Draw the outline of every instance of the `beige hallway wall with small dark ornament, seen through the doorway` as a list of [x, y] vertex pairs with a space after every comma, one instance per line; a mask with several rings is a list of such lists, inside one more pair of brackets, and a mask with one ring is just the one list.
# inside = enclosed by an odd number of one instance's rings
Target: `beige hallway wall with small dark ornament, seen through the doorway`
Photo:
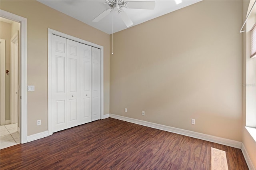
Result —
[[[11, 24], [1, 21], [1, 39], [5, 40], [5, 70], [10, 71]], [[5, 120], [10, 120], [10, 72], [5, 74]]]

